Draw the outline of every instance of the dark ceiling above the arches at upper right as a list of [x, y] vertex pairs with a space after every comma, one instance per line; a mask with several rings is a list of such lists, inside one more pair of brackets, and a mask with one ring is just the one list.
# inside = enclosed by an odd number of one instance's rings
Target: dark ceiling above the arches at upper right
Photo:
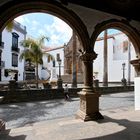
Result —
[[60, 0], [140, 21], [140, 0]]

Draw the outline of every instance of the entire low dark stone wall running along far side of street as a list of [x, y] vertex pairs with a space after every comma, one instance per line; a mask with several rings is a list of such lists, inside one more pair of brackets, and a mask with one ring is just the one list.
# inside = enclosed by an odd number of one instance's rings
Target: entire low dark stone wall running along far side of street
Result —
[[[82, 88], [69, 88], [69, 96], [79, 97], [77, 92], [80, 92]], [[117, 86], [117, 87], [96, 87], [94, 88], [95, 92], [100, 94], [110, 94], [116, 92], [126, 92], [134, 91], [134, 86]], [[64, 90], [63, 89], [16, 89], [16, 90], [7, 90], [0, 91], [1, 98], [0, 104], [3, 103], [12, 103], [12, 102], [28, 102], [28, 101], [39, 101], [39, 100], [51, 100], [51, 99], [63, 99]]]

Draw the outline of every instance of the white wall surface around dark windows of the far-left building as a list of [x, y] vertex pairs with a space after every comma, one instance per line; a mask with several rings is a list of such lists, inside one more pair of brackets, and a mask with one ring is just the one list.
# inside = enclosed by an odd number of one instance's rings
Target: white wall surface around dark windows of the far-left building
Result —
[[[23, 50], [23, 47], [20, 46], [20, 41], [24, 40], [25, 35], [15, 29], [12, 30], [19, 35], [18, 38], [18, 48], [20, 48], [20, 52]], [[2, 32], [2, 41], [4, 42], [4, 48], [2, 49], [2, 61], [5, 61], [5, 67], [2, 69], [2, 81], [9, 81], [11, 76], [5, 77], [4, 76], [4, 69], [15, 69], [18, 70], [18, 80], [23, 80], [23, 73], [24, 73], [24, 60], [18, 62], [18, 67], [12, 66], [12, 32], [7, 32], [6, 29]], [[18, 57], [20, 53], [18, 53]]]

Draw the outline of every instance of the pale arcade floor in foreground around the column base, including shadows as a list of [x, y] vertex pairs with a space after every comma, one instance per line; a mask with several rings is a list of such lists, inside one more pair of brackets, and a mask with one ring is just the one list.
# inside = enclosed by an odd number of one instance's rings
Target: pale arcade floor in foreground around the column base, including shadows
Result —
[[7, 130], [0, 140], [139, 140], [140, 111], [121, 108], [102, 111], [105, 119], [82, 122], [65, 117]]

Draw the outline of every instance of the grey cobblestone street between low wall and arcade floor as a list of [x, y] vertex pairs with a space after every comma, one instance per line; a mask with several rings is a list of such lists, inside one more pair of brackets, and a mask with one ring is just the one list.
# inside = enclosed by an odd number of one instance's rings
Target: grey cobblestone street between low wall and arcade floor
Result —
[[[100, 97], [100, 111], [133, 107], [134, 92], [123, 92], [102, 95]], [[79, 98], [71, 101], [64, 99], [15, 103], [0, 105], [0, 118], [6, 122], [6, 128], [28, 126], [34, 122], [74, 116], [79, 109]]]

